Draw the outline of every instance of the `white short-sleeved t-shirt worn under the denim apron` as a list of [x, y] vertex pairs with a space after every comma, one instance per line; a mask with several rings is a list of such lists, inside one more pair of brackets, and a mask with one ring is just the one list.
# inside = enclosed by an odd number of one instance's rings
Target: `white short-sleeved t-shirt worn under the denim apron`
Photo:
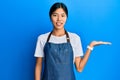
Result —
[[[44, 57], [43, 49], [44, 49], [44, 46], [45, 46], [45, 43], [47, 41], [49, 34], [50, 34], [50, 32], [42, 34], [38, 37], [36, 50], [35, 50], [35, 54], [34, 54], [35, 57]], [[71, 46], [73, 48], [74, 59], [75, 59], [75, 57], [83, 56], [83, 49], [82, 49], [80, 37], [77, 34], [71, 33], [71, 32], [68, 32], [68, 34], [70, 37]], [[66, 43], [67, 42], [66, 35], [63, 35], [60, 37], [51, 35], [49, 42], [56, 43], [56, 44]]]

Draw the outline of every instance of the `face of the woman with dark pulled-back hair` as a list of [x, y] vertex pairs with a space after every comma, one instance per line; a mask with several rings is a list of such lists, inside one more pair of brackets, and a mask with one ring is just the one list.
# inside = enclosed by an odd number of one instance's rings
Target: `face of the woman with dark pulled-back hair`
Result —
[[51, 15], [51, 20], [54, 25], [54, 29], [63, 29], [66, 22], [67, 15], [62, 8], [58, 8]]

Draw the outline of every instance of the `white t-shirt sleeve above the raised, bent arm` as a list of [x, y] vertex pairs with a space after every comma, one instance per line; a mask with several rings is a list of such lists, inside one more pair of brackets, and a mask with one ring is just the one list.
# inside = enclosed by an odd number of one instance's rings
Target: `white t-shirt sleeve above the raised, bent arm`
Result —
[[78, 35], [75, 35], [74, 41], [74, 57], [83, 56], [83, 49], [81, 39]]

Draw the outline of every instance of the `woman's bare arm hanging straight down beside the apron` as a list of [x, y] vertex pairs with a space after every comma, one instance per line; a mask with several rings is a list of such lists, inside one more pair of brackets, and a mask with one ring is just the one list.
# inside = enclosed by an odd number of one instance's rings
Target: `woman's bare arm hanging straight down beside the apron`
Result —
[[35, 66], [35, 80], [40, 80], [42, 72], [42, 57], [38, 57]]

